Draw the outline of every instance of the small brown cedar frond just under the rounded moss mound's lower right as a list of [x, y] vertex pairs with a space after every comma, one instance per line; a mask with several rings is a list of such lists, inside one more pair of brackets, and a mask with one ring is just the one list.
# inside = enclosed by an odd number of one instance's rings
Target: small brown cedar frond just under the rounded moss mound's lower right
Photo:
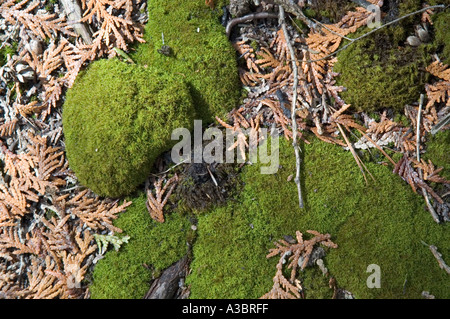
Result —
[[[164, 223], [164, 206], [169, 199], [169, 196], [172, 194], [175, 186], [178, 182], [178, 175], [175, 174], [171, 178], [169, 178], [164, 187], [162, 186], [166, 175], [159, 177], [157, 181], [155, 181], [154, 177], [150, 177], [145, 184], [146, 193], [147, 193], [147, 209], [150, 213], [150, 216], [156, 220], [157, 222]], [[155, 188], [155, 195], [153, 195], [152, 190], [150, 189], [150, 182], [153, 182], [153, 186]], [[170, 188], [169, 188], [170, 186]]]

